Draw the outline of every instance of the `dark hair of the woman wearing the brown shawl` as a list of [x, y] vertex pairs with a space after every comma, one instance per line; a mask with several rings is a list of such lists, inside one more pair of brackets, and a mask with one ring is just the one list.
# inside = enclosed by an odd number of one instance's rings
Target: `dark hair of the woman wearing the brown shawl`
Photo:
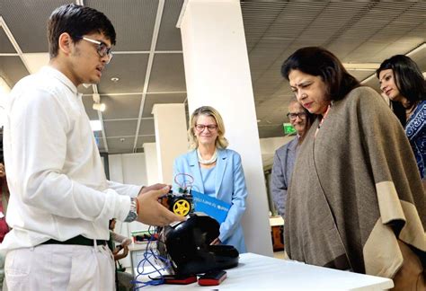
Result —
[[297, 49], [282, 64], [281, 74], [288, 80], [292, 70], [320, 76], [327, 86], [327, 98], [331, 101], [343, 99], [352, 89], [360, 86], [359, 81], [346, 71], [333, 53], [320, 47]]

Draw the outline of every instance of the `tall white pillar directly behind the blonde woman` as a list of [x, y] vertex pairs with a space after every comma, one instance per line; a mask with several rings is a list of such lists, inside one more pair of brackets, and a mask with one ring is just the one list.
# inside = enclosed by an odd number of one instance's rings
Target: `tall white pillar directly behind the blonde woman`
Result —
[[238, 0], [189, 0], [181, 33], [190, 114], [216, 108], [230, 148], [241, 154], [247, 184], [243, 227], [247, 250], [272, 256], [269, 209], [243, 16]]

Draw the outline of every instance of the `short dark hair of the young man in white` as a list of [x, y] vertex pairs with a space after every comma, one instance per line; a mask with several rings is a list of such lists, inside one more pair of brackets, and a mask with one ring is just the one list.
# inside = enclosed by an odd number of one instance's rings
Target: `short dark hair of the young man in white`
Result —
[[48, 40], [50, 58], [58, 56], [59, 36], [67, 32], [73, 41], [80, 41], [84, 34], [102, 33], [115, 45], [115, 30], [105, 14], [82, 5], [65, 4], [55, 9], [49, 17]]

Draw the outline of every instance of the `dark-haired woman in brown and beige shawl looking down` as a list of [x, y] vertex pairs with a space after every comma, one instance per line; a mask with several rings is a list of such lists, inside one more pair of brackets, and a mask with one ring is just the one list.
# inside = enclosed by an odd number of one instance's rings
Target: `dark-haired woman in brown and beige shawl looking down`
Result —
[[425, 193], [404, 128], [324, 48], [298, 49], [281, 73], [320, 116], [288, 189], [289, 258], [424, 288]]

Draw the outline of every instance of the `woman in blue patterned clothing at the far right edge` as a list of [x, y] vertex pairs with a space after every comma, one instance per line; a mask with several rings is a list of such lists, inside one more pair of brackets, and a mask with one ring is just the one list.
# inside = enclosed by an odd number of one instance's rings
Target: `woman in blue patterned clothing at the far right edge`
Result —
[[404, 55], [386, 59], [377, 69], [380, 90], [404, 107], [403, 114], [395, 115], [405, 128], [419, 167], [423, 185], [426, 185], [426, 81], [419, 66]]

